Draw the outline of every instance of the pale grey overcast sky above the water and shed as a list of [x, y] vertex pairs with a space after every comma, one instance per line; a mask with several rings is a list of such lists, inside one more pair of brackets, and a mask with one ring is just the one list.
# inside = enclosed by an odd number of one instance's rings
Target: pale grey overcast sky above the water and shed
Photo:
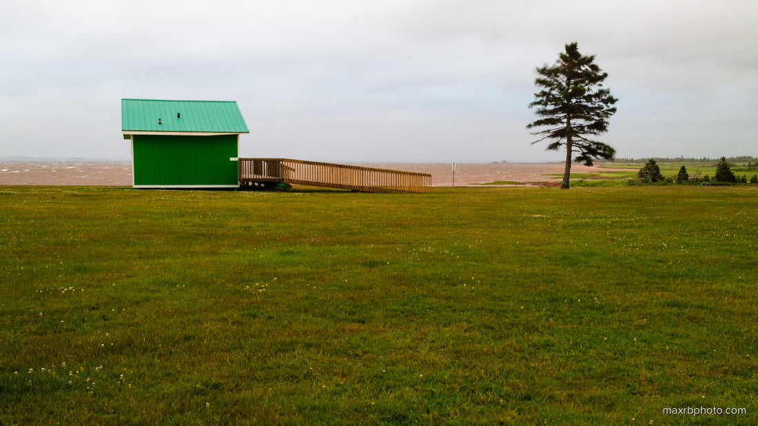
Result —
[[561, 160], [527, 105], [574, 41], [619, 157], [758, 155], [754, 0], [9, 0], [0, 157], [129, 160], [150, 98], [237, 101], [242, 157]]

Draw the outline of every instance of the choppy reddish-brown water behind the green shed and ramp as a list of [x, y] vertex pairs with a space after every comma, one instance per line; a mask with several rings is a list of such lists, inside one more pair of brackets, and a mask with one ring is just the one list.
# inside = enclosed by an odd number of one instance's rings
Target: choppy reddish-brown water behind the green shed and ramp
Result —
[[[381, 169], [430, 173], [432, 185], [452, 186], [452, 165], [447, 163], [352, 163]], [[596, 167], [572, 166], [572, 172], [586, 173]], [[522, 185], [559, 184], [561, 163], [457, 163], [456, 186], [489, 182], [522, 182]], [[132, 185], [130, 161], [0, 161], [0, 185]]]

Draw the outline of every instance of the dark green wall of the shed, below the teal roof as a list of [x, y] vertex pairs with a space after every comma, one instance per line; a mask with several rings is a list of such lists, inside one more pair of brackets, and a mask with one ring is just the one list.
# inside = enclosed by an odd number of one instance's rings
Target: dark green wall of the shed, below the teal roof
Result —
[[237, 185], [239, 135], [134, 135], [134, 186]]

